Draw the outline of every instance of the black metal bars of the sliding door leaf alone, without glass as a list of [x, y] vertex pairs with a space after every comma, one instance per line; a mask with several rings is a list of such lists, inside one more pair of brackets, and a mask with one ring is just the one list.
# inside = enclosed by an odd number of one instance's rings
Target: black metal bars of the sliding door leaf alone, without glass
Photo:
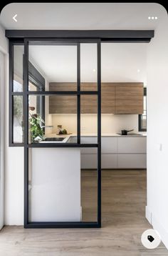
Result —
[[[101, 59], [100, 39], [51, 39], [54, 43], [75, 44], [77, 46], [77, 91], [51, 92], [51, 91], [28, 91], [28, 44], [29, 41], [47, 41], [48, 39], [24, 39], [24, 79], [23, 79], [23, 117], [24, 117], [24, 227], [101, 227]], [[97, 91], [80, 91], [80, 43], [97, 44], [97, 67], [98, 67], [98, 90]], [[77, 143], [56, 144], [56, 143], [36, 143], [28, 144], [28, 96], [29, 95], [76, 95], [77, 96]], [[97, 144], [80, 144], [80, 95], [95, 94], [98, 96], [98, 143]], [[97, 147], [98, 149], [98, 219], [95, 222], [29, 222], [28, 221], [28, 149], [33, 147]]]

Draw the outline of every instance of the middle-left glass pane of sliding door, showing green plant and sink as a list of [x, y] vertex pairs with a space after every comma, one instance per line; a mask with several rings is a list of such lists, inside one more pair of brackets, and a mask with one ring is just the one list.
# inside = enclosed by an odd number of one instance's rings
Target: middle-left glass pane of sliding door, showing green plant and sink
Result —
[[28, 97], [29, 143], [76, 143], [77, 97], [51, 95]]

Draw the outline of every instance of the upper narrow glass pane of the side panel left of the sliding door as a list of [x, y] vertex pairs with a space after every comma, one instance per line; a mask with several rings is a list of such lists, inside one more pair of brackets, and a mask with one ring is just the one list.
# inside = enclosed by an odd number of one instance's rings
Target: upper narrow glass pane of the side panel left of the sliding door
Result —
[[14, 45], [13, 91], [23, 92], [23, 45]]

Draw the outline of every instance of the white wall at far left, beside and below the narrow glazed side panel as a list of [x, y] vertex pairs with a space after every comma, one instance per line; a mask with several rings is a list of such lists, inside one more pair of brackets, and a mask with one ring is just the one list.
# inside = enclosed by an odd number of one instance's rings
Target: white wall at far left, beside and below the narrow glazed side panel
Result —
[[9, 55], [8, 40], [0, 26], [0, 51], [4, 52], [4, 94], [5, 94], [5, 184], [4, 224], [23, 225], [23, 148], [9, 147]]

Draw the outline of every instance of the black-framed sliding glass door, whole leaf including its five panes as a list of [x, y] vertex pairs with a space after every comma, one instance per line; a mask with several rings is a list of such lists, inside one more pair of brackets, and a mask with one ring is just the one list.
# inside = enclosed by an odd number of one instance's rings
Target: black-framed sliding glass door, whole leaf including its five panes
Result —
[[[29, 62], [43, 75], [43, 90], [28, 79]], [[24, 39], [23, 70], [24, 227], [100, 227], [100, 40]], [[36, 107], [42, 97], [45, 120]], [[83, 132], [90, 108], [93, 142]], [[81, 152], [97, 155], [89, 192]]]

